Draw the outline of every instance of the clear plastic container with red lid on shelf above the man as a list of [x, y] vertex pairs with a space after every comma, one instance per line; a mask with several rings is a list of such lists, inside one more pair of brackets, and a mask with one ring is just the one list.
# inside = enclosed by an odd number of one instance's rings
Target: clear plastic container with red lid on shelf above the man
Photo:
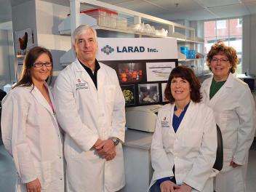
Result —
[[97, 8], [82, 11], [81, 13], [94, 17], [97, 20], [97, 25], [108, 28], [116, 28], [117, 12], [113, 12], [108, 9]]

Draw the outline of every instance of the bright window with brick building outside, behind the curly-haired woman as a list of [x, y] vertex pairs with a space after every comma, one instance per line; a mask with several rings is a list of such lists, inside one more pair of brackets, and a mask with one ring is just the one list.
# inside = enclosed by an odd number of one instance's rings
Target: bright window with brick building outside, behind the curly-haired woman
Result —
[[236, 73], [241, 73], [242, 65], [242, 23], [242, 18], [204, 22], [204, 54], [207, 55], [212, 44], [217, 41], [224, 41], [226, 45], [235, 48], [239, 56], [239, 65], [237, 65]]

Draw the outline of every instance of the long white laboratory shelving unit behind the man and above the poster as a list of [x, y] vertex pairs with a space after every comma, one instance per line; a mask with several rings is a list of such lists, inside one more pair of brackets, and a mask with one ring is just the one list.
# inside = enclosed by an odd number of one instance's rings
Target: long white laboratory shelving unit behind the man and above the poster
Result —
[[[125, 9], [123, 7], [117, 7], [113, 4], [107, 4], [102, 1], [95, 0], [73, 0], [70, 1], [71, 13], [68, 15], [65, 20], [58, 26], [58, 31], [60, 35], [71, 36], [71, 32], [75, 30], [81, 24], [86, 24], [95, 28], [96, 31], [103, 31], [106, 33], [112, 33], [114, 36], [125, 36], [127, 37], [156, 37], [156, 38], [175, 38], [177, 39], [178, 47], [188, 46], [190, 49], [197, 49], [197, 44], [203, 46], [204, 39], [197, 37], [196, 31], [194, 28], [190, 28], [185, 25], [181, 25], [179, 23], [174, 23], [169, 20], [164, 20], [159, 17], [153, 17], [151, 15], [146, 15], [140, 12], [135, 12], [129, 9]], [[97, 20], [98, 18], [91, 17], [87, 14], [84, 14], [83, 11], [87, 11], [88, 9], [102, 7], [103, 9], [108, 9], [113, 12], [117, 12], [118, 15], [116, 17], [129, 18], [129, 25], [127, 25], [127, 29], [121, 28], [113, 28], [105, 26], [104, 23]], [[168, 30], [167, 36], [159, 36], [152, 33], [144, 33], [135, 30], [131, 30], [131, 25], [140, 25], [143, 23], [150, 23], [151, 26], [154, 26], [156, 30], [160, 30], [161, 28], [164, 30]], [[117, 26], [116, 26], [117, 27]], [[129, 36], [128, 34], [132, 34], [134, 36]], [[204, 55], [201, 55], [204, 57]], [[66, 52], [62, 57], [60, 57], [60, 64], [65, 66], [68, 65], [74, 59], [73, 51], [70, 49]], [[187, 59], [185, 55], [178, 55], [178, 61], [185, 62], [194, 62], [202, 63], [201, 58], [199, 59]]]

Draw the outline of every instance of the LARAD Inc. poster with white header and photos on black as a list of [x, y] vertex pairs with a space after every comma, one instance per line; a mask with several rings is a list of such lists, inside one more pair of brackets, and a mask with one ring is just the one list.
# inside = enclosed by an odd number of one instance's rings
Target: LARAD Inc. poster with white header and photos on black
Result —
[[100, 38], [97, 59], [113, 68], [127, 107], [165, 104], [165, 84], [177, 65], [177, 41]]

